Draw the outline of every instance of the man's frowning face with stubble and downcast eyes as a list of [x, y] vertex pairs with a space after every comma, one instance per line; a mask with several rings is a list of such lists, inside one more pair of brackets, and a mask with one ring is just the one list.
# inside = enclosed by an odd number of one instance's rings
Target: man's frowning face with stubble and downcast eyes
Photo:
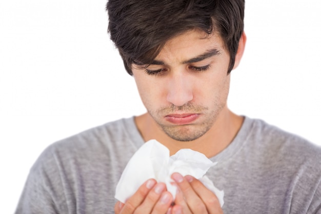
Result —
[[133, 65], [141, 99], [172, 139], [193, 141], [227, 109], [230, 56], [217, 35], [196, 30], [168, 41], [152, 65]]

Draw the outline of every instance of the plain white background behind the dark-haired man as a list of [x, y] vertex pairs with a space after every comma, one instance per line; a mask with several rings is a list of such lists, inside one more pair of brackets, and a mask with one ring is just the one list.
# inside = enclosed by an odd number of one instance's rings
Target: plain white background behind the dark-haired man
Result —
[[[0, 212], [49, 144], [144, 113], [109, 42], [105, 0], [0, 0]], [[249, 0], [229, 107], [321, 145], [321, 6]]]

